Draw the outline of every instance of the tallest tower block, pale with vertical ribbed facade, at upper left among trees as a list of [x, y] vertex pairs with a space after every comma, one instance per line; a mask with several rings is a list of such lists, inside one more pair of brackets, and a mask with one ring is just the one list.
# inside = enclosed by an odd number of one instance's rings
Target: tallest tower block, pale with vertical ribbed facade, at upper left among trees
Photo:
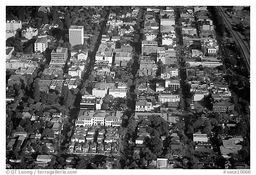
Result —
[[70, 26], [68, 32], [71, 46], [84, 44], [84, 26]]

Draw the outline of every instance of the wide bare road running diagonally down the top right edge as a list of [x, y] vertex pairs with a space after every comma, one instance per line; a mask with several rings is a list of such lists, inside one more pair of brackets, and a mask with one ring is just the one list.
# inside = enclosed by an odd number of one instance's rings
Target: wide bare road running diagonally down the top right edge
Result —
[[242, 55], [247, 60], [248, 66], [250, 68], [250, 51], [249, 51], [249, 49], [246, 47], [246, 44], [244, 43], [244, 40], [241, 38], [240, 34], [237, 31], [234, 31], [232, 29], [232, 24], [230, 23], [228, 17], [224, 13], [223, 8], [221, 6], [217, 6], [217, 7], [220, 11], [220, 15], [222, 16], [224, 22], [227, 24], [227, 27], [230, 28], [230, 30], [233, 34], [233, 38], [236, 40], [236, 43], [238, 44], [238, 46], [241, 48]]

